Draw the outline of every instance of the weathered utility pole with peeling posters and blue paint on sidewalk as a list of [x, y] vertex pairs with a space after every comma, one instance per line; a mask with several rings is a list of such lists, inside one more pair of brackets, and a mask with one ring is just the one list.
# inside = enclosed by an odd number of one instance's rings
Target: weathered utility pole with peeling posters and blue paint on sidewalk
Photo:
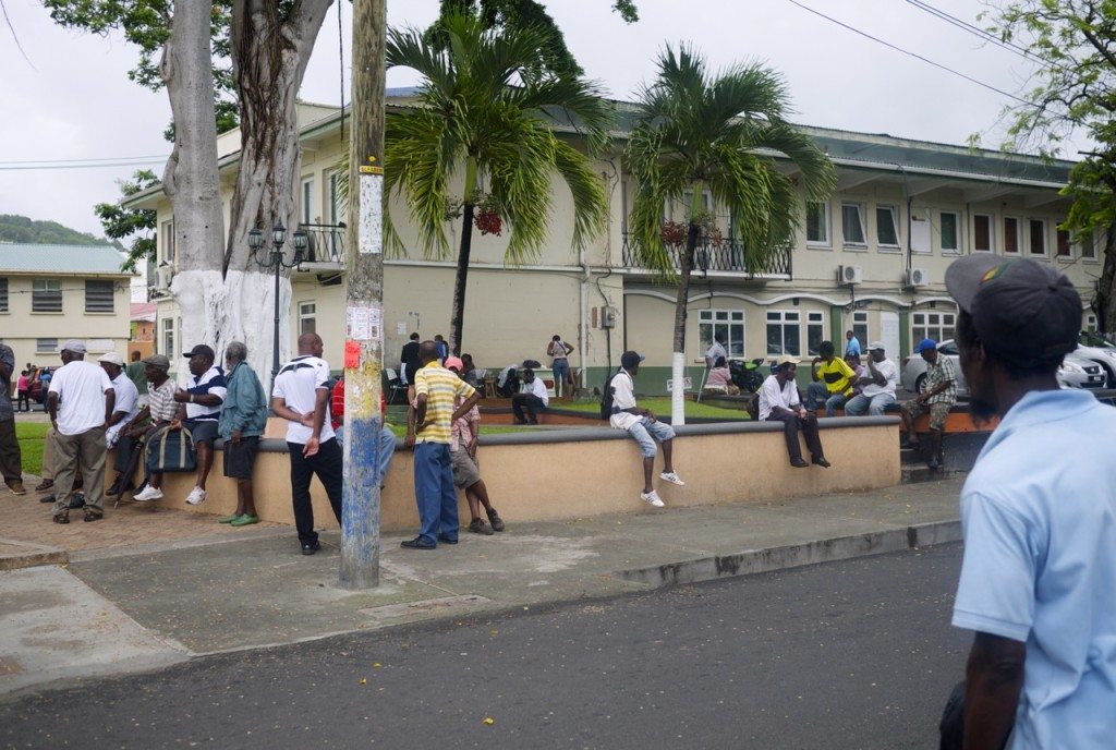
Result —
[[[345, 491], [341, 588], [379, 585], [384, 369], [384, 51], [387, 0], [353, 2], [349, 233], [345, 251]], [[354, 198], [356, 200], [354, 200]], [[356, 221], [353, 221], [353, 213]]]

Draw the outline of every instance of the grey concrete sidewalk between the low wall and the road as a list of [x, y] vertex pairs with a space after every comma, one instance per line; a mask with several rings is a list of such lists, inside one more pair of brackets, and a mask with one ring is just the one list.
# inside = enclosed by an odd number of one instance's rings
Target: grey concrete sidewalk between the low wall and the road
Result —
[[384, 537], [381, 586], [360, 593], [337, 587], [336, 532], [323, 536], [312, 557], [281, 527], [74, 549], [61, 567], [0, 573], [0, 693], [199, 654], [953, 541], [961, 481], [662, 511], [634, 506], [561, 522], [509, 518], [503, 533], [464, 532], [459, 545], [432, 551]]

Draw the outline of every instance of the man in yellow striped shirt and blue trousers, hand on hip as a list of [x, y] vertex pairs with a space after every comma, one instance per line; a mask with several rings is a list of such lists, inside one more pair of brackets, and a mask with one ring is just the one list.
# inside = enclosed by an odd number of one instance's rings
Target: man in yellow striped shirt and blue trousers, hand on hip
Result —
[[[480, 401], [477, 390], [439, 364], [437, 345], [419, 347], [423, 367], [415, 373], [415, 402], [407, 412], [404, 443], [414, 448], [415, 501], [422, 528], [403, 542], [405, 549], [434, 549], [439, 541], [458, 544], [458, 490], [453, 485], [450, 427]], [[461, 405], [453, 407], [458, 397]]]

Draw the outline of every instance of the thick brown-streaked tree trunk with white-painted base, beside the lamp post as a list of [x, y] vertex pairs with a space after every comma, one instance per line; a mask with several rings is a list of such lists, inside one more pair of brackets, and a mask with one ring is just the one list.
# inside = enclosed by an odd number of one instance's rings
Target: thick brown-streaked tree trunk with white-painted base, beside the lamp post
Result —
[[[297, 195], [301, 151], [296, 102], [326, 10], [333, 0], [298, 0], [286, 21], [275, 0], [237, 0], [233, 4], [233, 75], [240, 97], [240, 173], [230, 206], [223, 263], [228, 304], [221, 311], [221, 344], [248, 344], [248, 360], [258, 373], [271, 372], [275, 318], [272, 269], [260, 269], [248, 248], [248, 232], [259, 227], [271, 249], [271, 228], [288, 229], [283, 254], [294, 256], [298, 228]], [[270, 254], [270, 252], [268, 252]], [[289, 355], [291, 285], [289, 271], [279, 285], [279, 360]]]

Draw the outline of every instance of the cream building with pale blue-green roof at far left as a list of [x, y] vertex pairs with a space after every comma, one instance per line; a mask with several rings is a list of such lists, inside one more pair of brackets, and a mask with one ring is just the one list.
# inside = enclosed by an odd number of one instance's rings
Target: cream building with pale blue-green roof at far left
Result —
[[90, 354], [127, 358], [133, 273], [110, 244], [0, 242], [0, 340], [16, 364], [60, 366], [58, 345], [86, 342]]

